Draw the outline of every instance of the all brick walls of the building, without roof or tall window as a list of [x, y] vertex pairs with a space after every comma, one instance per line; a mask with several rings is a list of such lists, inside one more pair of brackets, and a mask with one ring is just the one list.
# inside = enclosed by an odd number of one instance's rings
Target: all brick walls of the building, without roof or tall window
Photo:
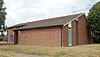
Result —
[[[88, 43], [86, 17], [82, 15], [72, 22], [72, 45]], [[15, 44], [34, 46], [68, 46], [68, 24], [65, 26], [52, 26], [34, 29], [18, 30], [8, 28], [8, 43], [10, 36], [15, 35]], [[17, 34], [16, 34], [17, 33]], [[17, 39], [18, 38], [18, 39]]]

